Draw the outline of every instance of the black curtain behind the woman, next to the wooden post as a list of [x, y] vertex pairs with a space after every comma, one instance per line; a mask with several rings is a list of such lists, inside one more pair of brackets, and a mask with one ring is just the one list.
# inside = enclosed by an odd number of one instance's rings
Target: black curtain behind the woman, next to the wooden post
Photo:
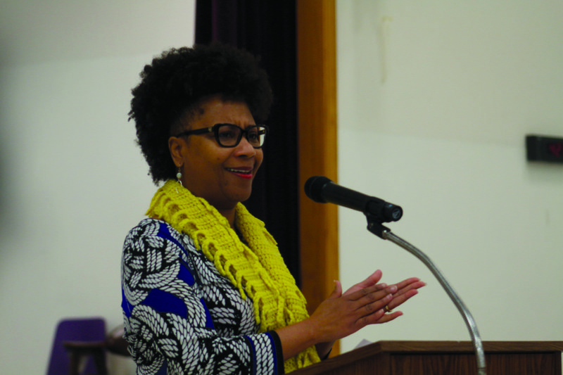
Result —
[[274, 91], [264, 162], [248, 210], [264, 221], [297, 284], [299, 267], [296, 0], [197, 0], [196, 44], [222, 42], [260, 58]]

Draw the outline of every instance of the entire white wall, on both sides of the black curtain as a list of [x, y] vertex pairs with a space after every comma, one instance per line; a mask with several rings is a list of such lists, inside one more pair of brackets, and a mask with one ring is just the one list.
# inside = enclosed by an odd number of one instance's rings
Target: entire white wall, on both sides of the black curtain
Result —
[[[563, 136], [563, 5], [340, 0], [339, 182], [403, 205], [485, 340], [562, 340], [563, 167], [524, 135]], [[126, 232], [154, 186], [127, 122], [151, 57], [193, 42], [194, 1], [4, 0], [0, 12], [0, 374], [46, 371], [61, 317], [121, 322]], [[384, 31], [385, 30], [385, 31]], [[361, 338], [466, 340], [412, 255], [341, 210], [341, 279], [429, 283]], [[127, 365], [114, 367], [127, 373]]]

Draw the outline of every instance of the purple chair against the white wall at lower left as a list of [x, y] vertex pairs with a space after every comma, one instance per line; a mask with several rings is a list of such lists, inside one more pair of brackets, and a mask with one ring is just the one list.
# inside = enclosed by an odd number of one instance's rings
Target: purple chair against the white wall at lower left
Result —
[[[81, 358], [86, 359], [83, 367]], [[65, 374], [108, 374], [103, 318], [68, 318], [58, 322], [47, 375]]]

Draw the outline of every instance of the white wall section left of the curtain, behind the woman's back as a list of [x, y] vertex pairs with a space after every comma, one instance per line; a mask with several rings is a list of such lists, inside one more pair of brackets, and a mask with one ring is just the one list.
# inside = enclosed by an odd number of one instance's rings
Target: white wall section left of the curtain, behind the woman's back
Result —
[[58, 319], [122, 322], [122, 242], [155, 190], [130, 90], [153, 56], [193, 44], [194, 1], [2, 8], [0, 374], [44, 374]]

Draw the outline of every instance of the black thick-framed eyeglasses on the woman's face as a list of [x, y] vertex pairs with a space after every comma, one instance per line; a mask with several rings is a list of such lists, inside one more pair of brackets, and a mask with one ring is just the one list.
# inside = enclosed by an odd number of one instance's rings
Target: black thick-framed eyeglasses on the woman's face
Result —
[[261, 148], [268, 132], [266, 125], [251, 125], [246, 129], [233, 124], [215, 124], [212, 127], [203, 129], [187, 130], [177, 134], [177, 136], [189, 136], [192, 134], [215, 134], [215, 140], [221, 147], [236, 147], [241, 143], [242, 136], [246, 137], [251, 146]]

